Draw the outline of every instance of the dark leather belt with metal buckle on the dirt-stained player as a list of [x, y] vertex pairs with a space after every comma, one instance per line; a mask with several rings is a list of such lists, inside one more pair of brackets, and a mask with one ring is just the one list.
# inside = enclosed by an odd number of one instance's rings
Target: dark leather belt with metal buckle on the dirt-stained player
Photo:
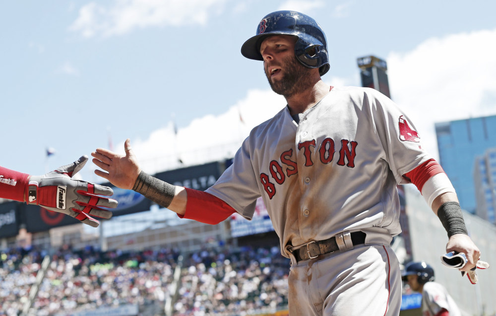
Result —
[[[364, 232], [353, 232], [351, 235], [351, 241], [353, 246], [365, 244]], [[331, 237], [326, 240], [311, 241], [306, 247], [302, 247], [293, 252], [296, 257], [296, 261], [313, 259], [324, 253], [333, 253], [339, 250], [339, 246], [336, 242], [336, 237]]]

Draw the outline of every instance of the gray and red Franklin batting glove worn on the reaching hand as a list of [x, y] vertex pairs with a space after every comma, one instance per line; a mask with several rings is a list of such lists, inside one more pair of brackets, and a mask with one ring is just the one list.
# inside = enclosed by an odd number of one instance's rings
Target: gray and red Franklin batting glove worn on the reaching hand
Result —
[[26, 189], [26, 203], [61, 212], [84, 224], [98, 227], [100, 222], [91, 216], [111, 218], [112, 212], [101, 207], [115, 208], [118, 202], [98, 196], [114, 194], [111, 188], [72, 179], [87, 161], [88, 156], [84, 155], [43, 176], [31, 176]]

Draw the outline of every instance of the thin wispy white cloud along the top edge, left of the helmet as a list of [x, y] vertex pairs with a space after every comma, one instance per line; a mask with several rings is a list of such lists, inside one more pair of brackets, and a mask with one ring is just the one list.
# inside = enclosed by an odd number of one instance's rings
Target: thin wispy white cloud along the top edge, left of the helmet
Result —
[[[203, 25], [226, 0], [116, 0], [111, 6], [90, 2], [79, 9], [69, 30], [83, 37], [122, 35], [151, 26]], [[195, 8], [192, 10], [191, 8]]]

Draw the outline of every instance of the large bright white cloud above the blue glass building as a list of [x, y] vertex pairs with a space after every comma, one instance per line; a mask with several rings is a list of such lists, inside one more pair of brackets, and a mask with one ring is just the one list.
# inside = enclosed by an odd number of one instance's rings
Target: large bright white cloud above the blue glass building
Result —
[[434, 123], [496, 114], [496, 29], [431, 38], [387, 57], [392, 99], [437, 156]]

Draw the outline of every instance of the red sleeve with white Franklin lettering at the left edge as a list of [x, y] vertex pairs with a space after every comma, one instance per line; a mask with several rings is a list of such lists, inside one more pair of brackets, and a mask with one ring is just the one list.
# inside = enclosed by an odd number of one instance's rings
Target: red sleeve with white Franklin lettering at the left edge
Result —
[[0, 197], [24, 202], [29, 175], [0, 166]]

